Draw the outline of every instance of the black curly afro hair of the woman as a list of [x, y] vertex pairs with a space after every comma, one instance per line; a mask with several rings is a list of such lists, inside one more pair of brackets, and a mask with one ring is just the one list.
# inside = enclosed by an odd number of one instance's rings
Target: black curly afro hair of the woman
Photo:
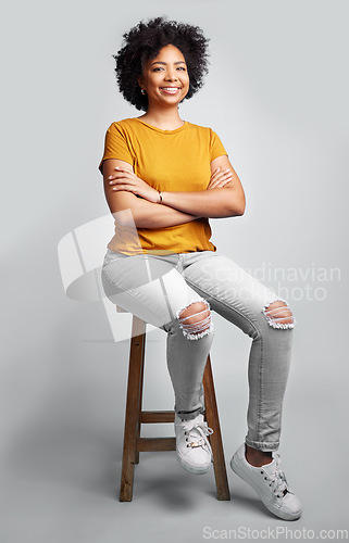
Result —
[[116, 80], [123, 97], [137, 110], [148, 109], [148, 97], [141, 93], [138, 78], [142, 76], [146, 63], [169, 45], [179, 49], [187, 63], [189, 90], [185, 98], [191, 98], [202, 87], [203, 77], [209, 71], [209, 39], [198, 26], [166, 21], [161, 16], [148, 23], [141, 21], [123, 38], [124, 46], [113, 55], [116, 61]]

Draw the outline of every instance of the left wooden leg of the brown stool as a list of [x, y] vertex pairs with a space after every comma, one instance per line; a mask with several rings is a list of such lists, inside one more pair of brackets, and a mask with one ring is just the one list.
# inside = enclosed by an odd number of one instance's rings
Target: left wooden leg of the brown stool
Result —
[[130, 502], [133, 497], [134, 470], [135, 462], [137, 459], [137, 438], [139, 435], [139, 411], [142, 367], [145, 361], [145, 342], [146, 323], [134, 316], [129, 351], [124, 451], [120, 488], [121, 502]]

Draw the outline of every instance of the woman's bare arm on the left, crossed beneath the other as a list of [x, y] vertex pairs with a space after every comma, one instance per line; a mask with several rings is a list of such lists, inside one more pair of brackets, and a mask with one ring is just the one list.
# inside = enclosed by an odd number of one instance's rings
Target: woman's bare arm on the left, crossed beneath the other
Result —
[[[132, 173], [134, 168], [128, 162], [116, 159], [108, 159], [103, 162], [103, 180], [107, 202], [112, 213], [124, 210], [128, 211], [117, 214], [119, 220], [122, 220], [124, 226], [133, 226], [134, 223], [139, 228], [163, 228], [166, 226], [182, 225], [198, 218], [192, 214], [177, 211], [167, 205], [160, 205], [159, 203], [150, 202], [144, 198], [137, 198], [137, 195], [130, 191], [114, 191], [112, 185], [110, 185], [109, 177], [115, 173], [116, 167], [125, 168]], [[151, 187], [149, 188], [151, 189]], [[151, 190], [155, 192], [158, 201], [158, 191], [154, 189]]]

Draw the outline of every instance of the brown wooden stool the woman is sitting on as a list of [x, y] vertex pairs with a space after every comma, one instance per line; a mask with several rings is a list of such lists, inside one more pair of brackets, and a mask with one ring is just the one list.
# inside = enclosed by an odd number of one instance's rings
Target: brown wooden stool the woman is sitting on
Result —
[[[119, 306], [116, 306], [116, 311], [119, 313], [127, 313]], [[153, 412], [142, 411], [141, 408], [146, 326], [147, 324], [144, 320], [135, 315], [133, 316], [125, 413], [124, 452], [120, 489], [121, 502], [132, 501], [135, 464], [139, 463], [140, 452], [176, 450], [175, 438], [140, 437], [141, 425], [151, 422], [174, 422], [175, 418], [174, 411]], [[203, 390], [205, 420], [208, 426], [214, 431], [209, 439], [213, 454], [217, 500], [230, 500], [210, 355], [208, 356], [203, 375]]]

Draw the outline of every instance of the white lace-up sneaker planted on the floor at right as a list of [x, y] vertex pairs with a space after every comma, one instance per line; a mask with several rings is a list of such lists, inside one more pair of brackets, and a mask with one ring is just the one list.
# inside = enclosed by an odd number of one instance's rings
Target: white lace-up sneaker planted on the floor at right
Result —
[[248, 482], [258, 493], [265, 507], [284, 520], [296, 520], [301, 515], [301, 504], [287, 484], [285, 473], [279, 469], [281, 457], [261, 467], [249, 464], [245, 457], [245, 444], [230, 460], [236, 475]]

